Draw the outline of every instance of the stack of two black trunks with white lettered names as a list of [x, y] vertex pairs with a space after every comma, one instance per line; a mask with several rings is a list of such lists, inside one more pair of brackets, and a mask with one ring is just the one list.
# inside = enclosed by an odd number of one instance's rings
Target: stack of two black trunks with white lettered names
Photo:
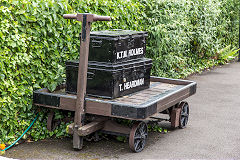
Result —
[[[117, 98], [150, 85], [152, 60], [144, 58], [147, 32], [91, 32], [87, 95]], [[81, 54], [81, 53], [80, 53]], [[76, 94], [79, 61], [66, 62], [66, 92]]]

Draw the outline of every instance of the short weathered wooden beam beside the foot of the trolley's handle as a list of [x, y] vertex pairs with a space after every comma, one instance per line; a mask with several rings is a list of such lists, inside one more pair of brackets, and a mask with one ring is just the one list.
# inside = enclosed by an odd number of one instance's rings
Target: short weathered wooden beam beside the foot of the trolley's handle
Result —
[[78, 128], [79, 136], [87, 136], [97, 130], [100, 130], [104, 127], [104, 121], [90, 122], [82, 127]]

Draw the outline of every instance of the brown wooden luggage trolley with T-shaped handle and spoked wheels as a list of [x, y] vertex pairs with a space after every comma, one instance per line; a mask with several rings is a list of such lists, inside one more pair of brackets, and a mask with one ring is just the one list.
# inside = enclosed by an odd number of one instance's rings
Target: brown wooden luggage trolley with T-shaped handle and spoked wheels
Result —
[[[196, 83], [187, 80], [150, 78], [150, 87], [115, 99], [86, 96], [90, 25], [94, 21], [110, 21], [108, 16], [94, 14], [65, 14], [66, 19], [82, 22], [80, 60], [78, 65], [77, 95], [65, 92], [60, 85], [54, 92], [48, 89], [34, 91], [33, 103], [53, 109], [74, 111], [74, 123], [68, 127], [73, 134], [73, 148], [81, 149], [83, 137], [96, 131], [129, 137], [130, 149], [143, 150], [148, 135], [149, 119], [163, 120], [158, 113], [169, 114], [171, 126], [185, 128], [188, 122], [189, 105], [182, 100], [196, 92]], [[51, 129], [53, 114], [48, 117]], [[132, 120], [131, 127], [118, 124], [114, 118]]]

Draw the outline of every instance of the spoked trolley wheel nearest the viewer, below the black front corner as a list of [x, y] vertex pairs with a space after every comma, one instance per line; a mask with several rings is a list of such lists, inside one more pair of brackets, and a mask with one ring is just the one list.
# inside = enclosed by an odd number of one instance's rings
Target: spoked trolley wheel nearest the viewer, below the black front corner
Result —
[[148, 136], [148, 127], [145, 122], [134, 123], [129, 135], [129, 147], [133, 152], [141, 152]]

